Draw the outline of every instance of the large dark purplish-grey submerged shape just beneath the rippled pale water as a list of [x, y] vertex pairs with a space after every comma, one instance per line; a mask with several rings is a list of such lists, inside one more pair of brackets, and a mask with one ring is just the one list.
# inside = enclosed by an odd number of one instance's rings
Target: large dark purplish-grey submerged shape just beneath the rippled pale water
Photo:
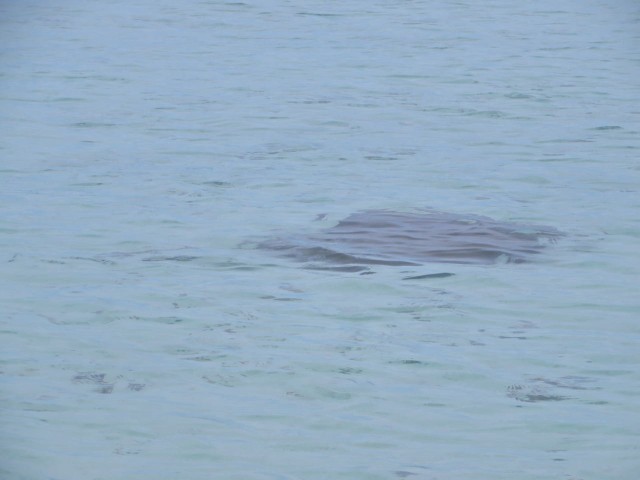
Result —
[[553, 227], [479, 215], [370, 210], [325, 230], [266, 240], [258, 248], [308, 268], [357, 272], [371, 265], [524, 263], [562, 235]]

